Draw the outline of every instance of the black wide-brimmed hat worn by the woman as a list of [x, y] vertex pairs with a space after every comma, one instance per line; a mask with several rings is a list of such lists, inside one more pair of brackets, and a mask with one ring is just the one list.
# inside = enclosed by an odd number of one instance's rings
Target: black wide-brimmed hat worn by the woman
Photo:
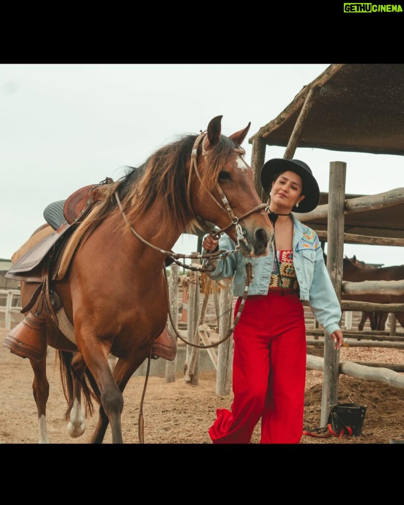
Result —
[[300, 160], [286, 160], [284, 158], [274, 158], [264, 163], [261, 169], [261, 184], [264, 191], [271, 190], [271, 183], [274, 176], [280, 172], [290, 170], [301, 177], [303, 183], [302, 194], [305, 198], [299, 203], [299, 207], [293, 207], [293, 212], [310, 212], [314, 210], [320, 201], [320, 188], [314, 178], [312, 171], [305, 162]]

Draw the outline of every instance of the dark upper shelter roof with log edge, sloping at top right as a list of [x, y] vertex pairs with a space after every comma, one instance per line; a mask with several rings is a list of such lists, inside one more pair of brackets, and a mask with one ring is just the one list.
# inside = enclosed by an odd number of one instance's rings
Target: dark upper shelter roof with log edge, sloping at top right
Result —
[[249, 138], [286, 146], [310, 89], [318, 87], [299, 147], [404, 155], [404, 64], [333, 64]]

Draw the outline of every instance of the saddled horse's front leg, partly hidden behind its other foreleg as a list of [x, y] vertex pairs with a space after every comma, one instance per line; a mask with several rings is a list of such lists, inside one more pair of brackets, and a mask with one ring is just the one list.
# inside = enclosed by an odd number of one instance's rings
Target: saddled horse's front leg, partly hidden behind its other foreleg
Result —
[[[143, 361], [149, 356], [150, 347], [144, 349], [143, 352], [136, 352], [135, 356], [128, 361], [118, 360], [114, 367], [114, 378], [120, 391], [123, 393], [126, 384], [129, 379], [133, 376], [134, 372], [139, 368]], [[99, 418], [98, 423], [95, 428], [91, 443], [102, 443], [105, 437], [109, 424], [108, 416], [103, 409], [103, 406], [99, 408]], [[112, 429], [112, 425], [111, 425]], [[114, 434], [113, 434], [114, 441]]]

